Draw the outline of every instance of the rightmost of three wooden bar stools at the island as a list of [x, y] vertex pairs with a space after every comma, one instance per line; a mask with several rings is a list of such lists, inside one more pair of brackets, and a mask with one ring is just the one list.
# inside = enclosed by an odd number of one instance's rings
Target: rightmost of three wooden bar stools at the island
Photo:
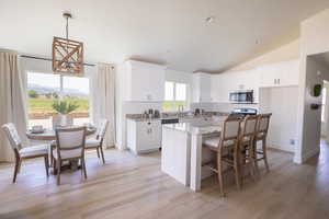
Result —
[[[253, 153], [254, 153], [254, 161], [256, 161], [256, 169], [259, 173], [258, 162], [264, 160], [266, 171], [270, 171], [269, 162], [268, 162], [268, 152], [266, 152], [266, 137], [269, 131], [270, 118], [272, 114], [261, 114], [258, 117], [258, 126], [256, 130], [256, 138], [253, 141]], [[258, 141], [262, 142], [262, 148], [258, 149]], [[258, 158], [258, 154], [262, 157]]]

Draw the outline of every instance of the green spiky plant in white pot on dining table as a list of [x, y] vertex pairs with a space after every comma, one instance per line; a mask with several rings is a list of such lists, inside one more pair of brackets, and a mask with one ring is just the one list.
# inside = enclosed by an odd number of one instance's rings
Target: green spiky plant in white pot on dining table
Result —
[[68, 100], [54, 101], [53, 108], [58, 114], [53, 116], [53, 128], [73, 125], [73, 118], [68, 116], [68, 114], [76, 111], [79, 105], [77, 102], [70, 102]]

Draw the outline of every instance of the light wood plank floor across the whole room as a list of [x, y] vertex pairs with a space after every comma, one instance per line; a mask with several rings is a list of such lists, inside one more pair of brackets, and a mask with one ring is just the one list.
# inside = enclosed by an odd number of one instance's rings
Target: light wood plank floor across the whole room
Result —
[[[95, 153], [87, 159], [88, 181], [67, 172], [63, 184], [46, 178], [42, 160], [23, 163], [12, 184], [12, 165], [0, 165], [0, 218], [329, 218], [329, 149], [305, 165], [292, 154], [270, 151], [271, 172], [257, 183], [246, 180], [242, 191], [228, 185], [220, 198], [215, 177], [193, 193], [160, 171], [160, 153], [134, 157], [107, 150], [106, 165]], [[261, 165], [263, 170], [263, 165]], [[227, 182], [231, 184], [231, 181]]]

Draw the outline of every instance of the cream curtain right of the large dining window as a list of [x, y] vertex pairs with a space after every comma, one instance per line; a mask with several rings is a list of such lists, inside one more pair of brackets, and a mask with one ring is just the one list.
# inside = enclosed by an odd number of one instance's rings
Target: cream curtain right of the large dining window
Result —
[[115, 142], [115, 68], [109, 64], [98, 64], [97, 72], [90, 74], [91, 115], [95, 125], [100, 119], [109, 120], [104, 138], [105, 147]]

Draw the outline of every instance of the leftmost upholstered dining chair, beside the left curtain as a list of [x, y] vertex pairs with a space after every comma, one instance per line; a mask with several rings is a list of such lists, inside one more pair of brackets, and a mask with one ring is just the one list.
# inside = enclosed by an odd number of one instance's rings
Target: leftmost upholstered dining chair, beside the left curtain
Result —
[[16, 182], [18, 173], [21, 171], [21, 164], [23, 160], [34, 159], [34, 158], [44, 158], [46, 174], [49, 176], [48, 169], [48, 145], [39, 145], [39, 146], [22, 146], [22, 140], [18, 134], [18, 130], [12, 123], [8, 123], [2, 125], [2, 129], [4, 130], [8, 140], [10, 142], [11, 148], [15, 154], [15, 168], [12, 182]]

